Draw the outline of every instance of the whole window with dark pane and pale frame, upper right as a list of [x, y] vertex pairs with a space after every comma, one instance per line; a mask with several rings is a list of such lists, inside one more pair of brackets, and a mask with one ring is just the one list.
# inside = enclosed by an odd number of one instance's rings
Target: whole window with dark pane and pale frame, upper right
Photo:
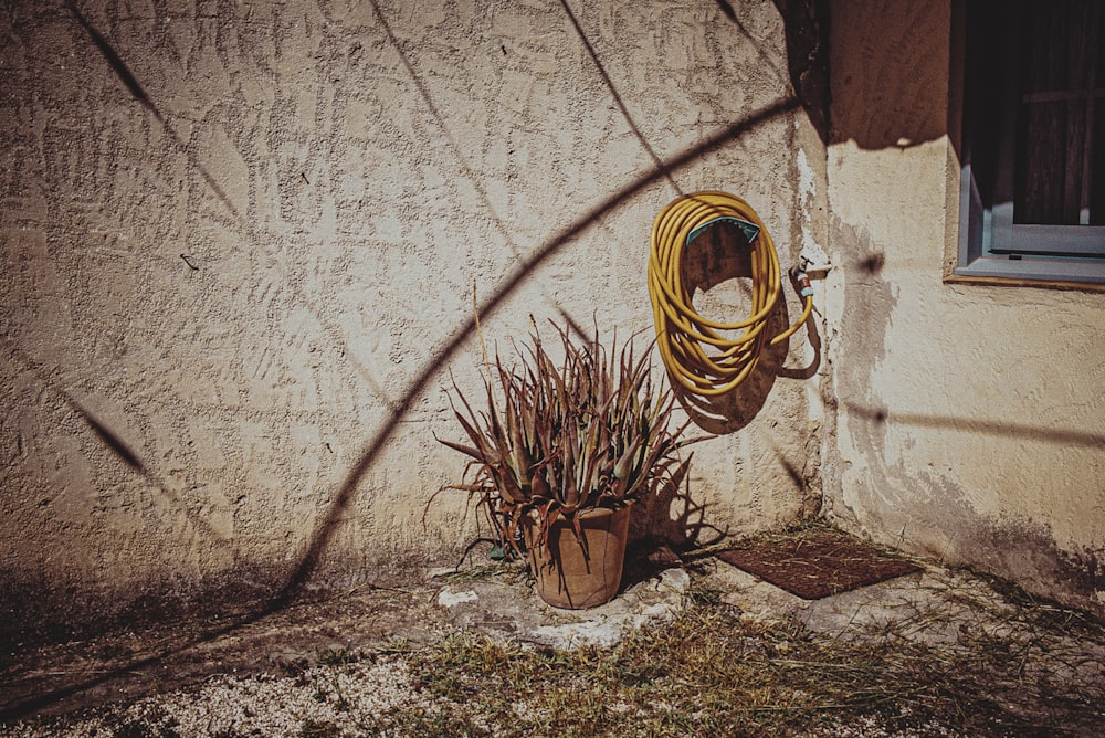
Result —
[[955, 274], [1105, 284], [1105, 10], [967, 0]]

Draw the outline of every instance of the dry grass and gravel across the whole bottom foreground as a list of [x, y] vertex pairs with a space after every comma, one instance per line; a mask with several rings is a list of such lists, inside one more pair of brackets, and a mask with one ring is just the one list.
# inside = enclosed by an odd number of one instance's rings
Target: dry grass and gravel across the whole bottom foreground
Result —
[[[1097, 736], [1105, 725], [1102, 624], [1000, 580], [949, 572], [930, 609], [834, 636], [749, 619], [708, 577], [695, 581], [674, 623], [612, 649], [527, 650], [453, 631], [430, 645], [327, 651], [312, 668], [228, 682], [220, 699], [241, 709], [243, 689], [280, 682], [301, 707], [290, 727], [264, 731], [274, 737]], [[244, 721], [204, 732], [167, 704], [12, 735], [256, 735]]]

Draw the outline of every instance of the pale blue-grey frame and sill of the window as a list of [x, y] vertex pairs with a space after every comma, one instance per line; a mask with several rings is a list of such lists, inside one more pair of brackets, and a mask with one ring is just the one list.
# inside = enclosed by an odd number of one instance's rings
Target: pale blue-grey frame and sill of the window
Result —
[[[978, 85], [977, 80], [970, 78], [971, 72], [979, 71], [969, 68], [968, 1], [957, 0], [953, 3], [949, 131], [953, 133], [954, 143], [958, 143], [956, 148], [959, 150], [958, 187], [954, 187], [958, 196], [959, 220], [956, 254], [954, 260], [949, 260], [951, 264], [945, 277], [947, 281], [1103, 288], [1105, 226], [1014, 224], [1012, 202], [988, 205], [983, 200], [971, 157], [972, 135], [983, 124], [972, 119], [972, 109], [980, 103], [968, 98], [968, 95], [976, 92], [971, 84], [976, 84], [978, 88], [983, 85]], [[999, 63], [1003, 62], [1008, 62], [1008, 57], [999, 60]], [[1003, 68], [1008, 70], [1008, 65], [1003, 65]], [[1009, 95], [1010, 80], [1011, 75], [1004, 75], [1001, 80], [1007, 87], [1000, 94], [1007, 102], [1014, 99]], [[1007, 116], [1011, 113], [1008, 107], [1003, 110]], [[996, 178], [1012, 177], [1010, 170], [1015, 150], [1010, 135], [1012, 125], [1001, 126], [1003, 130], [999, 133], [1003, 134], [1004, 140], [991, 152], [994, 160], [990, 162], [990, 167], [996, 170]], [[994, 130], [990, 129], [988, 133], [992, 136]], [[1003, 171], [997, 171], [998, 169]], [[1008, 182], [1004, 183], [1008, 187]], [[1091, 256], [1072, 255], [1087, 250]]]

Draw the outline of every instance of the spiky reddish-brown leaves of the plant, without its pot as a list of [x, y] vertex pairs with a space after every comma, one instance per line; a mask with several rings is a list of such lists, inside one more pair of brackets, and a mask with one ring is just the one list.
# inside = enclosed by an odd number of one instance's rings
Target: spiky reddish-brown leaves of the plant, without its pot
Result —
[[681, 440], [686, 423], [670, 430], [674, 396], [653, 387], [648, 352], [634, 356], [632, 340], [619, 351], [615, 337], [608, 354], [598, 336], [577, 344], [567, 328], [554, 327], [562, 361], [535, 328], [518, 366], [507, 368], [496, 354], [485, 409], [474, 410], [453, 382], [461, 403], [453, 411], [471, 445], [438, 439], [472, 460], [464, 475], [472, 481], [453, 488], [478, 496], [504, 551], [520, 554], [526, 516], [536, 524], [536, 545], [547, 546], [561, 518], [579, 538], [580, 513], [677, 487], [690, 462], [678, 453], [688, 443]]

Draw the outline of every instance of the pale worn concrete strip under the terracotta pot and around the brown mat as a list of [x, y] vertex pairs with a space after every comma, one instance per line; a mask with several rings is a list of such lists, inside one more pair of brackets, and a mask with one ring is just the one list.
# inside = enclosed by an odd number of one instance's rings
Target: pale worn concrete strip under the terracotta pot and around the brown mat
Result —
[[[677, 559], [675, 559], [677, 561]], [[796, 623], [848, 641], [917, 640], [954, 646], [967, 632], [1008, 635], [1015, 608], [978, 578], [935, 563], [922, 571], [817, 600], [806, 600], [717, 558], [694, 563], [695, 586], [717, 593], [743, 618]], [[526, 647], [610, 646], [644, 628], [671, 622], [692, 586], [687, 567], [638, 572], [639, 581], [590, 610], [546, 604], [519, 569], [506, 581], [445, 584], [436, 603], [455, 628]]]

